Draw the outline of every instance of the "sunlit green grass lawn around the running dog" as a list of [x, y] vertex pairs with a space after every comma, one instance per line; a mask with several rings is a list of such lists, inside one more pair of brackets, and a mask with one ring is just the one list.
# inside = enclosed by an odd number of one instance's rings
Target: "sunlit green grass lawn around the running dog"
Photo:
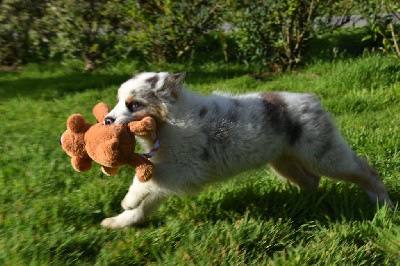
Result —
[[[0, 265], [400, 265], [398, 209], [377, 208], [360, 188], [333, 180], [301, 191], [266, 168], [196, 197], [172, 197], [144, 227], [102, 229], [103, 218], [121, 211], [133, 173], [106, 177], [97, 165], [77, 173], [59, 137], [71, 113], [90, 117], [98, 101], [113, 105], [119, 83], [138, 66], [0, 72]], [[238, 66], [208, 63], [189, 66], [186, 83], [201, 93], [316, 93], [397, 204], [399, 70], [398, 61], [373, 56], [260, 81]]]

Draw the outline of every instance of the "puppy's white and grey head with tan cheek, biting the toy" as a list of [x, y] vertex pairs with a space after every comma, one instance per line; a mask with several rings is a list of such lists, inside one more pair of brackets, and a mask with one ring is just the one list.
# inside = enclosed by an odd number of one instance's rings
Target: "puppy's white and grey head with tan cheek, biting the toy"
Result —
[[123, 83], [118, 103], [104, 119], [105, 124], [122, 124], [151, 116], [167, 119], [168, 108], [179, 100], [185, 73], [145, 72]]

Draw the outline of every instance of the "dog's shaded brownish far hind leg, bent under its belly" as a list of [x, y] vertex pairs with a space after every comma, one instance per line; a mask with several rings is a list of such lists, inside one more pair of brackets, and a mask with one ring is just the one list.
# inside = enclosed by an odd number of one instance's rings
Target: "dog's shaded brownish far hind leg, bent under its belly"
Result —
[[272, 170], [302, 189], [317, 189], [320, 176], [314, 174], [309, 167], [294, 156], [281, 155], [270, 163]]

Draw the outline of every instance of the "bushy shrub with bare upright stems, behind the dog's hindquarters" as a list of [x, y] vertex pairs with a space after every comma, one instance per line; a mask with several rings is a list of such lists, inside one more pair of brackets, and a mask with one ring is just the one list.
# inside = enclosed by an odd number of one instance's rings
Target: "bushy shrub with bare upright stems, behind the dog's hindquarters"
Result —
[[304, 45], [323, 29], [315, 27], [315, 19], [338, 7], [331, 0], [256, 0], [238, 5], [234, 21], [243, 60], [291, 70], [302, 60]]

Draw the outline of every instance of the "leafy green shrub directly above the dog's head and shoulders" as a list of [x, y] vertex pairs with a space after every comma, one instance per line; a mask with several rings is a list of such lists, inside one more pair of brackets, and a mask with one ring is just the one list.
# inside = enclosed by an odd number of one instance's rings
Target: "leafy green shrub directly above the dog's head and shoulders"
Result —
[[222, 10], [210, 0], [137, 0], [120, 7], [132, 25], [132, 46], [155, 63], [188, 58], [199, 38], [217, 28]]

